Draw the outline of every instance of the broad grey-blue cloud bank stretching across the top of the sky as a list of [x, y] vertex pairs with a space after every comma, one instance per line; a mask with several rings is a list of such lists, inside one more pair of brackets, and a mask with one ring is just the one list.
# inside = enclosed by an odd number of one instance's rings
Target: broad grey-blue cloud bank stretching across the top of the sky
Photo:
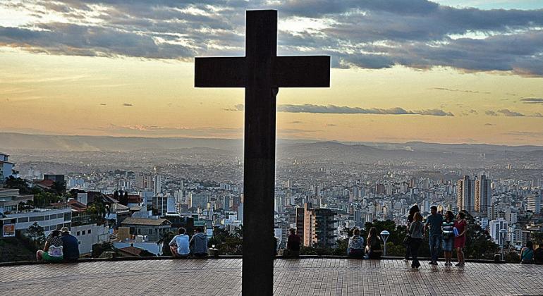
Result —
[[[283, 27], [278, 50], [329, 54], [336, 68], [447, 66], [543, 75], [542, 9], [453, 8], [426, 0], [24, 1], [18, 9], [39, 20], [0, 27], [0, 45], [47, 54], [185, 61], [243, 55], [245, 9], [262, 7], [278, 9], [282, 21], [312, 18], [327, 24]], [[47, 11], [66, 21], [49, 23]]]

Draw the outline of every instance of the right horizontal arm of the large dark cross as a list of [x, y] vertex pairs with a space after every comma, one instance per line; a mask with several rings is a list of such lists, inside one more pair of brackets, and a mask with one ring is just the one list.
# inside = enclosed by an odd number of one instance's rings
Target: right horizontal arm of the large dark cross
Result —
[[330, 87], [330, 56], [277, 56], [276, 87]]

